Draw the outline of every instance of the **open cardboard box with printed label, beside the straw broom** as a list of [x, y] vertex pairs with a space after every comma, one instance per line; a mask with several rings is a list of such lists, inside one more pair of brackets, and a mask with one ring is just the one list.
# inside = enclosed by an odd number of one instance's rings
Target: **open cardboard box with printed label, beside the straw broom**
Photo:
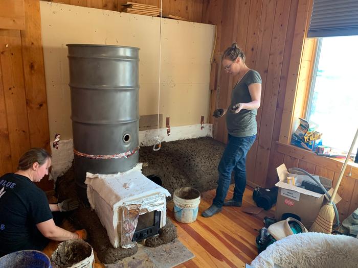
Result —
[[[302, 224], [309, 229], [315, 222], [321, 207], [328, 202], [325, 199], [325, 194], [298, 187], [303, 180], [309, 182], [314, 182], [314, 180], [305, 175], [289, 174], [285, 164], [280, 165], [276, 170], [279, 177], [279, 182], [275, 184], [279, 187], [275, 212], [276, 220], [280, 221], [283, 213], [293, 213], [298, 215]], [[287, 183], [288, 176], [296, 178], [296, 185]], [[331, 180], [316, 175], [313, 176], [319, 179], [325, 188], [330, 188], [328, 192], [332, 194]], [[339, 201], [341, 201], [341, 197], [337, 194], [334, 198], [334, 203], [337, 204]]]

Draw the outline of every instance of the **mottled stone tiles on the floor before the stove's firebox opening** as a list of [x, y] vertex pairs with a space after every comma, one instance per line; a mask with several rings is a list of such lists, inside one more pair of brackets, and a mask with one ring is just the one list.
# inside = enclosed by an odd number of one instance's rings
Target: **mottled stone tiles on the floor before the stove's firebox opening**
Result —
[[135, 255], [115, 264], [104, 264], [106, 268], [171, 268], [194, 258], [178, 239], [156, 248], [140, 246]]

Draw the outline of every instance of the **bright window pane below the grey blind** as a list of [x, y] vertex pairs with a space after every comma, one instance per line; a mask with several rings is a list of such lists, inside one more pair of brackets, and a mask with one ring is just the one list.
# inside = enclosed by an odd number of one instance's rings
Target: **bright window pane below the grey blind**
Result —
[[323, 145], [343, 151], [358, 128], [357, 65], [358, 36], [320, 38], [306, 118], [323, 133]]

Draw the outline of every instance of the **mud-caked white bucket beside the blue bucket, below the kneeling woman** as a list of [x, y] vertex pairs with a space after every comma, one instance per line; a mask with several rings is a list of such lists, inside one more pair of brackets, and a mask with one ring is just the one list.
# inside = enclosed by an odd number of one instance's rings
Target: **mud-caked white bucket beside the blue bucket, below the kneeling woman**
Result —
[[93, 268], [95, 255], [91, 245], [82, 239], [67, 240], [58, 245], [51, 262], [54, 268]]

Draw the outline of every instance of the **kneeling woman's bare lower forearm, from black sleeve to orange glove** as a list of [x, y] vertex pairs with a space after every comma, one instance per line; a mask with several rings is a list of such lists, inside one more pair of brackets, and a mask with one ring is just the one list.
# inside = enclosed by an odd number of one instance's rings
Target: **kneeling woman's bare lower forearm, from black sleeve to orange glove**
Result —
[[52, 240], [65, 241], [79, 238], [78, 234], [56, 226], [52, 218], [46, 222], [36, 224], [36, 227], [44, 237]]

